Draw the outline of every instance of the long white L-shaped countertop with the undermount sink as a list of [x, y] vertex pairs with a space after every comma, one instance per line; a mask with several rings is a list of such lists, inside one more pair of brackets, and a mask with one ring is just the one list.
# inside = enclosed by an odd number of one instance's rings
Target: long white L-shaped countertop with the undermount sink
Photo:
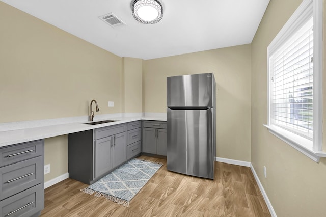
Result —
[[[151, 116], [133, 116], [133, 117], [112, 117], [106, 119], [96, 119], [94, 121], [101, 120], [117, 120], [110, 123], [97, 124], [97, 125], [89, 125], [85, 124], [89, 121], [82, 122], [73, 122], [73, 123], [64, 123], [64, 124], [56, 124], [49, 126], [40, 126], [40, 127], [27, 127], [22, 129], [8, 130], [8, 131], [0, 131], [0, 147], [8, 146], [12, 144], [18, 144], [23, 142], [29, 142], [34, 140], [40, 140], [50, 137], [56, 137], [58, 135], [65, 135], [74, 132], [80, 132], [90, 129], [96, 129], [105, 126], [112, 126], [122, 123], [127, 123], [131, 121], [139, 121], [139, 120], [155, 120], [155, 121], [166, 121], [166, 116], [164, 115], [151, 115]], [[8, 124], [8, 126], [12, 126], [14, 123]], [[2, 124], [5, 125], [5, 124]]]

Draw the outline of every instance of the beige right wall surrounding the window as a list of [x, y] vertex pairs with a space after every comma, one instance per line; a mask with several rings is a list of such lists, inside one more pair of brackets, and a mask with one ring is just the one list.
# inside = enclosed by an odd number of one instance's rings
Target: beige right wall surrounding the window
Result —
[[252, 42], [251, 161], [278, 216], [325, 216], [326, 158], [317, 164], [262, 126], [267, 123], [266, 48], [301, 2], [271, 0]]

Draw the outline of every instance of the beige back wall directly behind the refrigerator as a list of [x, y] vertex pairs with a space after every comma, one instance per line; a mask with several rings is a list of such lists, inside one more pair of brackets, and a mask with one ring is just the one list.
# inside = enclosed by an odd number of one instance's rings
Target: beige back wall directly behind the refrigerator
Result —
[[210, 73], [216, 80], [216, 154], [250, 161], [251, 46], [146, 60], [144, 111], [166, 112], [168, 76]]

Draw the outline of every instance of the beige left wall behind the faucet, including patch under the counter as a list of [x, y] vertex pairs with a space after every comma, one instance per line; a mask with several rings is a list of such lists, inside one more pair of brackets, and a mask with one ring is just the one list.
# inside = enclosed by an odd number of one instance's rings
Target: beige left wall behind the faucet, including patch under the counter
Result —
[[[0, 26], [0, 123], [87, 116], [92, 99], [121, 112], [120, 57], [3, 2]], [[66, 136], [45, 140], [45, 164], [45, 181], [68, 172]]]

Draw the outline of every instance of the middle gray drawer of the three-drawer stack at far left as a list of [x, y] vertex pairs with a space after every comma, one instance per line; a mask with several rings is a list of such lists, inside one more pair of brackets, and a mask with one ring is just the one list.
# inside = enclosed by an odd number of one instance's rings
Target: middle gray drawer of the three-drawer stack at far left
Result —
[[42, 156], [0, 168], [0, 200], [41, 183], [43, 176]]

